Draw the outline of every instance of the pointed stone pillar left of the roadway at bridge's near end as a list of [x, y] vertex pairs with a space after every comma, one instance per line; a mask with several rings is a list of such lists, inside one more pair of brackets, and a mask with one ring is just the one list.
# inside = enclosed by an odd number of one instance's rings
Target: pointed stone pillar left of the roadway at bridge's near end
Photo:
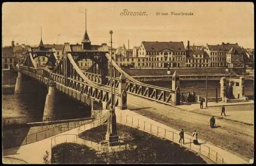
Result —
[[120, 110], [127, 109], [127, 93], [126, 93], [126, 78], [121, 74], [119, 77], [118, 88], [118, 108]]

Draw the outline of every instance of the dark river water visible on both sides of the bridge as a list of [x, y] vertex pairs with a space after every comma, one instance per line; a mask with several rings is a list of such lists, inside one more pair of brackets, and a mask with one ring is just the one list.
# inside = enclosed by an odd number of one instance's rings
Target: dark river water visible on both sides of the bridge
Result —
[[[170, 81], [153, 81], [145, 82], [147, 84], [152, 84], [156, 86], [169, 88], [172, 85]], [[220, 96], [220, 80], [208, 80], [208, 97], [215, 97], [215, 89], [218, 89], [218, 96]], [[186, 94], [187, 92], [195, 92], [205, 98], [205, 80], [181, 80], [180, 81], [181, 92]], [[19, 96], [14, 96], [14, 86], [9, 88], [3, 88], [3, 99], [2, 99], [2, 115], [5, 117], [9, 116], [26, 116], [26, 115], [42, 115], [45, 100], [46, 91], [37, 94], [22, 94]], [[6, 90], [9, 89], [9, 90]], [[245, 81], [245, 94], [246, 96], [254, 95], [254, 82], [252, 80]], [[129, 101], [128, 101], [129, 102]], [[59, 100], [60, 107], [58, 108], [58, 113], [83, 113], [87, 112], [90, 114], [90, 108], [81, 106], [81, 104], [76, 101], [71, 100], [69, 97], [62, 94]]]

